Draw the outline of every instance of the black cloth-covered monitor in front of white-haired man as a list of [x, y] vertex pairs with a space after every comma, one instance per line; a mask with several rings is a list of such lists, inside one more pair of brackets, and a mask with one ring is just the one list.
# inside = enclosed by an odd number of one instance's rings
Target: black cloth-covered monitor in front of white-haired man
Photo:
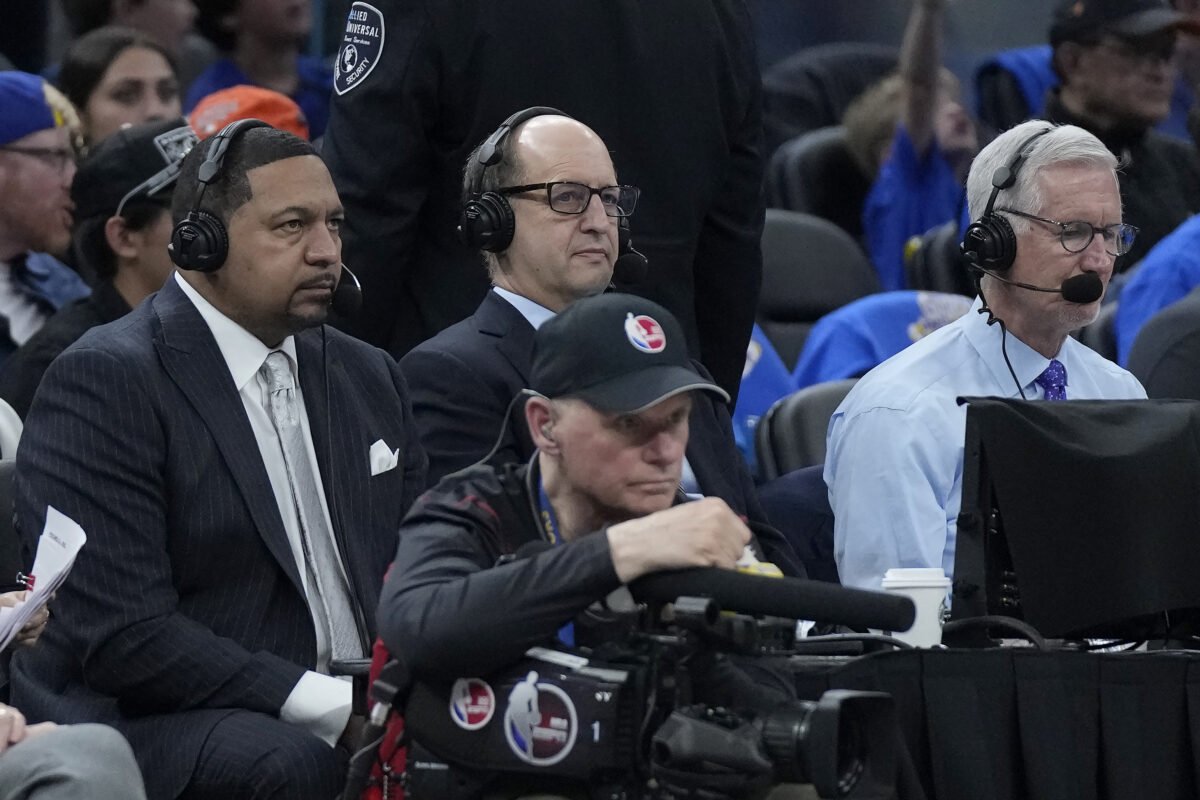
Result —
[[967, 403], [952, 619], [1200, 633], [1200, 402]]

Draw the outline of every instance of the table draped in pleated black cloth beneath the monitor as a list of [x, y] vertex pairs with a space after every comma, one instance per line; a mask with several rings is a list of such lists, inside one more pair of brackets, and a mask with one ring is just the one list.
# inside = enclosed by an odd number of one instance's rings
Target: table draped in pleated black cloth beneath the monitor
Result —
[[908, 775], [931, 800], [1200, 798], [1200, 652], [935, 649], [793, 664], [805, 699], [892, 694]]

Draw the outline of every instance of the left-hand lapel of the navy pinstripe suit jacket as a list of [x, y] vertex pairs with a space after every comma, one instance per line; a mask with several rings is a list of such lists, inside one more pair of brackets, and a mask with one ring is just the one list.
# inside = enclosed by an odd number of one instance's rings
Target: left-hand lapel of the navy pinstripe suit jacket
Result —
[[275, 491], [266, 476], [241, 396], [233, 385], [216, 339], [174, 279], [167, 281], [152, 302], [160, 325], [155, 349], [163, 369], [204, 421], [259, 535], [296, 591], [304, 595], [295, 555], [275, 503]]

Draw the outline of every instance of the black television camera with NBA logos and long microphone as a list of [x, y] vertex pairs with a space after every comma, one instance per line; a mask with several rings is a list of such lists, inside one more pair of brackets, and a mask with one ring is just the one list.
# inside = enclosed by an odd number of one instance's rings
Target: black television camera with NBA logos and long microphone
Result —
[[[608, 627], [593, 648], [532, 648], [496, 674], [438, 681], [409, 682], [390, 664], [372, 691], [384, 700], [377, 711], [403, 709], [406, 798], [718, 800], [779, 782], [811, 783], [822, 798], [892, 796], [889, 696], [828, 691], [754, 712], [696, 690], [726, 660], [784, 663], [794, 618], [905, 630], [911, 601], [726, 570], [659, 573], [629, 589], [640, 610], [608, 620], [619, 632]], [[395, 697], [380, 697], [389, 688]]]

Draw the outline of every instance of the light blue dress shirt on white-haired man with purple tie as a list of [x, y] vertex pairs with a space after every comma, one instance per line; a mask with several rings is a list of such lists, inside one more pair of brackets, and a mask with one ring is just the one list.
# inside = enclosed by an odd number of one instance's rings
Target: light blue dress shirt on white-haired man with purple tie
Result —
[[[1019, 397], [1001, 330], [977, 313], [934, 331], [871, 369], [829, 420], [824, 479], [842, 584], [880, 589], [893, 567], [954, 572], [966, 407], [958, 397]], [[1027, 399], [1050, 359], [1015, 336], [1008, 357]], [[1068, 399], [1136, 399], [1138, 379], [1073, 338], [1057, 354]], [[1034, 457], [1033, 453], [1030, 455]]]

